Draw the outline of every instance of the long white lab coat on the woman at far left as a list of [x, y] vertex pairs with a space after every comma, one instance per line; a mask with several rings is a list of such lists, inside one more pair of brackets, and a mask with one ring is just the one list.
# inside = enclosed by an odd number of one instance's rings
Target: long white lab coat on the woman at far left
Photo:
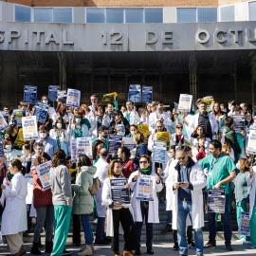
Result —
[[18, 172], [5, 190], [6, 208], [2, 215], [2, 235], [17, 234], [27, 230], [27, 180]]

